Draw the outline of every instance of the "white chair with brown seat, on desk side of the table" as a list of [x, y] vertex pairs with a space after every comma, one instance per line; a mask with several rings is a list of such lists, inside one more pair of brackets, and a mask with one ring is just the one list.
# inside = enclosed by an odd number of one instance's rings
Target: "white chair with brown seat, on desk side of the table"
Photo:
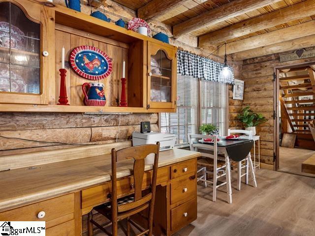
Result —
[[[231, 179], [230, 179], [230, 164], [226, 162], [226, 159], [222, 155], [218, 155], [218, 142], [217, 136], [210, 135], [200, 135], [200, 134], [189, 134], [189, 147], [192, 151], [201, 152], [202, 157], [198, 159], [197, 165], [201, 167], [197, 170], [197, 176], [199, 172], [202, 172], [203, 175], [197, 177], [197, 181], [205, 182], [205, 187], [207, 187], [207, 183], [212, 184], [213, 186], [213, 195], [212, 201], [216, 202], [217, 198], [217, 188], [226, 184], [226, 193], [227, 193], [227, 201], [229, 202], [229, 193], [231, 189]], [[213, 139], [213, 146], [208, 144], [202, 144], [194, 142], [199, 139]], [[227, 159], [228, 160], [228, 159]], [[224, 171], [225, 170], [225, 171]], [[221, 172], [221, 174], [219, 174]], [[207, 179], [207, 174], [213, 175], [213, 181]], [[218, 183], [218, 179], [225, 176], [225, 182], [220, 184]]]

